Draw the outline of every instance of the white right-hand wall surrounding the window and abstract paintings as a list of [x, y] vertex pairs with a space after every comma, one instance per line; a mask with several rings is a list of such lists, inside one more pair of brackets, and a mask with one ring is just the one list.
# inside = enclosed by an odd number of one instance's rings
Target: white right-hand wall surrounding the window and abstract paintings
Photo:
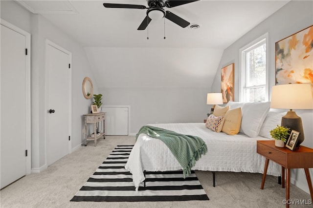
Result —
[[[291, 1], [246, 33], [239, 40], [224, 50], [219, 68], [235, 63], [235, 101], [239, 101], [240, 54], [239, 49], [268, 32], [269, 51], [269, 85], [275, 85], [275, 42], [280, 41], [313, 24], [313, 1]], [[221, 74], [216, 73], [211, 86], [212, 91], [221, 88]], [[305, 140], [303, 146], [313, 147], [313, 110], [296, 110], [302, 118]], [[313, 171], [310, 169], [311, 178]], [[291, 181], [309, 193], [308, 184], [303, 170], [293, 170]]]

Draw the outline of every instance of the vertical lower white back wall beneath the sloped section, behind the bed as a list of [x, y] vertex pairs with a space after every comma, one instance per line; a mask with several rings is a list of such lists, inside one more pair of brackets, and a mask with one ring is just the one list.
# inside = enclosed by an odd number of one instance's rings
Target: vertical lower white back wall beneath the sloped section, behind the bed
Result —
[[203, 123], [210, 108], [210, 88], [120, 87], [99, 88], [105, 105], [130, 105], [130, 134], [155, 123]]

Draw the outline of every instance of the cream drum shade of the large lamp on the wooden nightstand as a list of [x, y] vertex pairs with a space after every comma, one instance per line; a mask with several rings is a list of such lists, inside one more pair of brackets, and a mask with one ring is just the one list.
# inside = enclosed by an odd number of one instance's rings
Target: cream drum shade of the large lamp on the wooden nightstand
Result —
[[313, 109], [311, 84], [281, 84], [272, 86], [270, 107]]

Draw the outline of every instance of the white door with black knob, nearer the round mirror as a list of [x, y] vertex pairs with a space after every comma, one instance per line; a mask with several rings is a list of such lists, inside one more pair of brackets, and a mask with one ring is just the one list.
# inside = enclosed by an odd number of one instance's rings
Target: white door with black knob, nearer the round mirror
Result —
[[71, 53], [46, 42], [48, 75], [47, 165], [70, 153]]

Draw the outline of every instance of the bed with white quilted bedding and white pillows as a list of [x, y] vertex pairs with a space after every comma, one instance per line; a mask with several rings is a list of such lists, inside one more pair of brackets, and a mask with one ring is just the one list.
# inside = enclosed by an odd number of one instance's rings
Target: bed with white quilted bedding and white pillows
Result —
[[[193, 170], [263, 173], [265, 158], [256, 152], [257, 140], [270, 140], [269, 130], [280, 124], [283, 113], [269, 111], [268, 103], [228, 103], [241, 108], [240, 132], [228, 135], [215, 132], [203, 123], [150, 124], [181, 134], [199, 136], [207, 145], [207, 153]], [[225, 124], [224, 124], [225, 125]], [[136, 190], [145, 180], [144, 171], [181, 170], [177, 159], [160, 140], [140, 134], [125, 168], [133, 175]], [[280, 176], [281, 166], [269, 162], [268, 175]]]

